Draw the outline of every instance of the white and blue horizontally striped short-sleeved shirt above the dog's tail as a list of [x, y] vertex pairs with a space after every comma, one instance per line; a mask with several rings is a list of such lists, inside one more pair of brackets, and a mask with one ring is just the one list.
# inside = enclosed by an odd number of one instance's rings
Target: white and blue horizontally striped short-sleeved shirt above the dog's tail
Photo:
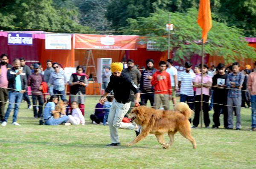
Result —
[[186, 71], [180, 72], [178, 81], [181, 81], [180, 94], [194, 96], [193, 82], [195, 81], [195, 73]]

